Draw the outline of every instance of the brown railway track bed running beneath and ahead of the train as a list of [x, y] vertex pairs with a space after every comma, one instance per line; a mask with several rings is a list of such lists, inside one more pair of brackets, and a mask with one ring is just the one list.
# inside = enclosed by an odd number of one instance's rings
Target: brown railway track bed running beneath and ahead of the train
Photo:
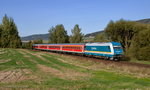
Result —
[[[37, 51], [37, 50], [33, 50], [33, 51]], [[45, 51], [42, 51], [45, 52]], [[46, 51], [46, 53], [49, 51]], [[101, 62], [104, 64], [115, 64], [116, 66], [135, 66], [135, 67], [141, 67], [141, 68], [150, 68], [150, 65], [148, 64], [141, 64], [141, 63], [135, 63], [135, 62], [129, 62], [129, 61], [111, 61], [111, 60], [105, 60], [99, 57], [91, 57], [91, 56], [83, 56], [83, 55], [76, 55], [76, 54], [68, 54], [68, 53], [56, 53], [56, 52], [50, 52], [56, 55], [64, 55], [64, 56], [70, 56], [70, 57], [74, 57], [80, 60], [91, 60], [94, 62]]]

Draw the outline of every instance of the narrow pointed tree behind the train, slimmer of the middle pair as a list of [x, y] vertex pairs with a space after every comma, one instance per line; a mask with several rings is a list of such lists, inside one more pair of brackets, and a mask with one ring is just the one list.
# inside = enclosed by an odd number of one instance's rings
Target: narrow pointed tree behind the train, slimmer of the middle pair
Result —
[[81, 43], [83, 42], [83, 34], [81, 33], [81, 29], [79, 25], [76, 24], [74, 28], [71, 30], [72, 35], [70, 36], [70, 43]]

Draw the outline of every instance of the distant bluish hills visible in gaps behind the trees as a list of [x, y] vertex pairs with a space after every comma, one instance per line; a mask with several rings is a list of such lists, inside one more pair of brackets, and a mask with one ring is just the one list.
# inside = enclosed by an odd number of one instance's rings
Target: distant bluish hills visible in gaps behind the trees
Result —
[[[141, 19], [141, 20], [137, 20], [136, 22], [139, 22], [139, 23], [144, 23], [144, 24], [150, 24], [150, 19]], [[102, 33], [104, 32], [103, 30], [101, 31], [97, 31], [97, 32], [92, 32], [92, 33], [89, 33], [89, 34], [86, 34], [85, 35], [85, 38], [88, 38], [88, 37], [95, 37], [97, 34], [99, 33]], [[47, 34], [34, 34], [34, 35], [30, 35], [30, 36], [26, 36], [26, 37], [21, 37], [21, 40], [22, 41], [29, 41], [29, 40], [36, 40], [36, 39], [43, 39], [45, 41], [48, 40], [48, 33]]]

